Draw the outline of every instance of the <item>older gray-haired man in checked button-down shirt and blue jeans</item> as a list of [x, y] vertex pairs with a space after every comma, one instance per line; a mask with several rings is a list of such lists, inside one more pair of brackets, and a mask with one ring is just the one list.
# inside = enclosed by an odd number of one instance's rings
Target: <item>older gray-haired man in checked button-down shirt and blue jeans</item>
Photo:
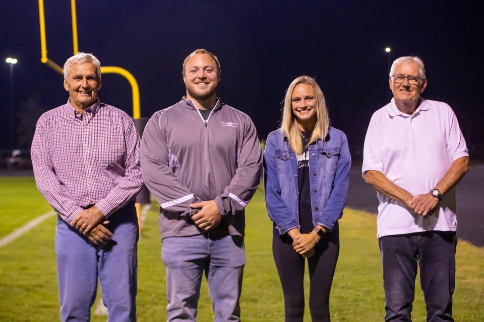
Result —
[[67, 104], [44, 113], [32, 142], [35, 180], [58, 212], [55, 253], [61, 320], [88, 321], [97, 277], [110, 321], [136, 320], [140, 139], [131, 118], [100, 103], [99, 60], [64, 65]]

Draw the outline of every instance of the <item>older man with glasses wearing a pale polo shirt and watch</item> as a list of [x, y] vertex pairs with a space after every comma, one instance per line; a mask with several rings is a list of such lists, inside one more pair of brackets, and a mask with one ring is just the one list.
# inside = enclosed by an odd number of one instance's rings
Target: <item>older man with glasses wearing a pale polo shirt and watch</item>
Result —
[[450, 106], [421, 98], [427, 79], [418, 57], [396, 59], [389, 84], [393, 99], [372, 116], [362, 167], [380, 202], [385, 321], [411, 320], [417, 263], [427, 321], [452, 321], [455, 186], [469, 154]]

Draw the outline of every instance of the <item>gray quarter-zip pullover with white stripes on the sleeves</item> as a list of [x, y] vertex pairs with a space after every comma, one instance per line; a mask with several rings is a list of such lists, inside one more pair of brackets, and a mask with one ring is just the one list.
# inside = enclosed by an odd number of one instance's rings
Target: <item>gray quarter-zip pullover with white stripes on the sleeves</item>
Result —
[[161, 238], [205, 232], [190, 218], [191, 203], [215, 200], [216, 230], [243, 235], [244, 208], [256, 192], [262, 151], [250, 117], [217, 101], [205, 121], [192, 101], [156, 112], [141, 143], [143, 179], [160, 203]]

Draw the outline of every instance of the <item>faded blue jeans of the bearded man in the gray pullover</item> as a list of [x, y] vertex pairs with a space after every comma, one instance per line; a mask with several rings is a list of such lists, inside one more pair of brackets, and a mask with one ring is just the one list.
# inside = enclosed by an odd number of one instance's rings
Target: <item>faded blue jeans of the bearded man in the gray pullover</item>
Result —
[[195, 321], [202, 274], [214, 310], [213, 320], [240, 320], [240, 292], [246, 263], [244, 237], [204, 233], [163, 238], [168, 321]]

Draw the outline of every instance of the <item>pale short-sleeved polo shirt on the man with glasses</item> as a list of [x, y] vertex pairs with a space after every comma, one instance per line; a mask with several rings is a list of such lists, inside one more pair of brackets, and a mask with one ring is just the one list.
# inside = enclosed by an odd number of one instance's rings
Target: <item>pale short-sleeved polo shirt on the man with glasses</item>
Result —
[[[449, 105], [423, 100], [413, 115], [408, 115], [400, 112], [392, 99], [373, 114], [368, 126], [362, 176], [369, 170], [380, 171], [416, 196], [428, 193], [456, 159], [468, 155], [464, 136]], [[378, 237], [457, 229], [455, 187], [443, 196], [434, 215], [425, 219], [403, 203], [378, 192], [377, 197]]]

